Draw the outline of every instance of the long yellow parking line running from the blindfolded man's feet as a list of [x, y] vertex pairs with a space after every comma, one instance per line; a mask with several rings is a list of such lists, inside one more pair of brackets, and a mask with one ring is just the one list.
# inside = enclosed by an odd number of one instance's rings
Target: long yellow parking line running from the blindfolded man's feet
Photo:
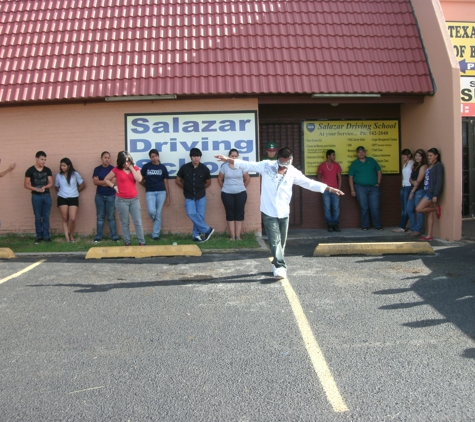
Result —
[[302, 305], [300, 305], [299, 298], [297, 297], [288, 279], [284, 278], [281, 280], [281, 282], [297, 320], [300, 334], [302, 335], [305, 347], [307, 348], [307, 353], [310, 356], [313, 368], [317, 373], [323, 390], [327, 395], [328, 401], [332, 405], [335, 412], [348, 412], [348, 407], [346, 406], [343, 397], [341, 397], [341, 394], [338, 391], [336, 382], [333, 379], [330, 369], [328, 368], [327, 362], [325, 361], [325, 356], [323, 356], [323, 353], [318, 346], [317, 340], [313, 335], [307, 317], [303, 312]]

